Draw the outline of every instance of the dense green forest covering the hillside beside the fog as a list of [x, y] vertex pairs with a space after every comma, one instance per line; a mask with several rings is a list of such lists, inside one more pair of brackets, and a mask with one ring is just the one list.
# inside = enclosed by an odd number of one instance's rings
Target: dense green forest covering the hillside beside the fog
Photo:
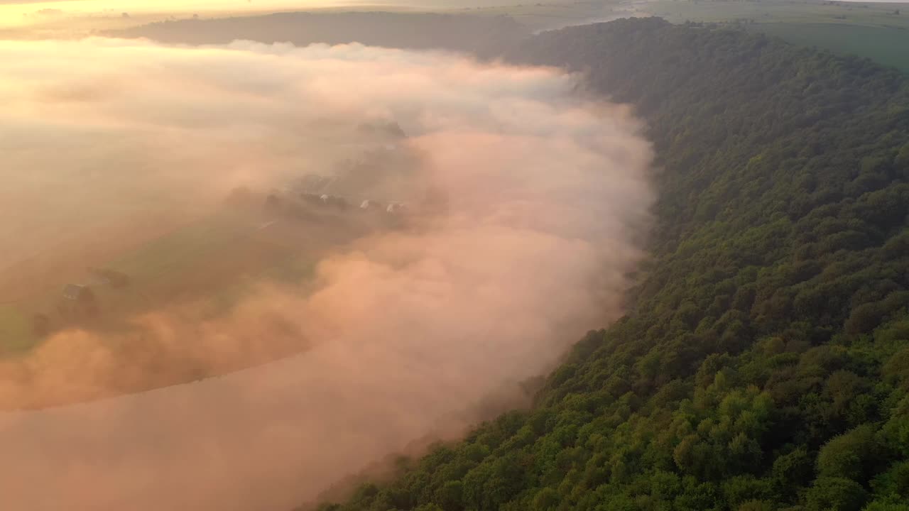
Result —
[[909, 510], [909, 85], [658, 19], [536, 35], [652, 126], [661, 201], [628, 315], [529, 411], [346, 510]]

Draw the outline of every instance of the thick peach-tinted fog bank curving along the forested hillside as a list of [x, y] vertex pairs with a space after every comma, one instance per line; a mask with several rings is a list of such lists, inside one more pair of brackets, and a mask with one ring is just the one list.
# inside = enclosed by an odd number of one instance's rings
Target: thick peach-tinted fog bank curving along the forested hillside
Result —
[[[0, 414], [9, 509], [286, 511], [417, 440], [525, 406], [522, 382], [621, 315], [643, 256], [650, 145], [627, 107], [584, 97], [577, 76], [362, 45], [5, 42], [0, 59], [0, 182], [18, 201], [0, 217], [7, 263], [72, 259], [48, 248], [61, 233], [111, 256], [235, 186], [327, 171], [355, 135], [314, 127], [324, 119], [398, 123], [397, 150], [422, 163], [397, 186], [449, 197], [445, 215], [358, 235], [325, 250], [311, 281], [255, 286], [225, 314], [183, 301], [136, 314], [149, 351], [189, 344], [198, 365], [279, 341], [305, 351]], [[102, 228], [121, 235], [92, 236]], [[67, 328], [5, 360], [0, 399], [142, 380], [118, 335]]]

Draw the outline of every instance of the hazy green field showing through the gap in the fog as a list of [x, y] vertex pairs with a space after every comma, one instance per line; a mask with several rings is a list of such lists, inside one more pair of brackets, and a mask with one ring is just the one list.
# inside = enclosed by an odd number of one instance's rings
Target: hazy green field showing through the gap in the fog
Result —
[[[92, 263], [129, 276], [127, 287], [99, 285], [86, 271], [35, 296], [0, 303], [0, 352], [22, 353], [40, 341], [32, 331], [36, 314], [49, 316], [55, 329], [116, 330], [131, 328], [137, 315], [181, 304], [206, 304], [211, 314], [220, 314], [265, 282], [299, 285], [328, 250], [371, 228], [348, 220], [335, 215], [275, 217], [258, 208], [225, 206], [114, 260]], [[57, 307], [67, 283], [91, 286], [99, 316], [75, 324], [61, 316]]]

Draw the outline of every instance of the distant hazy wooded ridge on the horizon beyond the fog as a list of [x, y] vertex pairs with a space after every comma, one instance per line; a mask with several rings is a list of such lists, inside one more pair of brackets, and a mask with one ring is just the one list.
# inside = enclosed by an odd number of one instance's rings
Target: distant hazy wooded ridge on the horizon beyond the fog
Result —
[[397, 13], [279, 13], [217, 19], [185, 19], [110, 32], [163, 43], [219, 45], [236, 39], [266, 44], [313, 43], [395, 48], [439, 48], [492, 55], [529, 35], [508, 16]]

